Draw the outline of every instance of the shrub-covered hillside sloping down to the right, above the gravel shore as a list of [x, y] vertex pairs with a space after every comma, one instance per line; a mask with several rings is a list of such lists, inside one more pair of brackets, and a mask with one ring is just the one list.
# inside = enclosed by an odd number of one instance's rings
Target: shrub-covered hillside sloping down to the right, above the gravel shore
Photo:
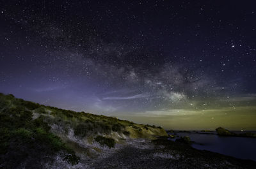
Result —
[[126, 139], [166, 135], [161, 127], [47, 107], [0, 94], [0, 168], [40, 168], [42, 161], [51, 161], [56, 154], [75, 165], [81, 158], [92, 158], [104, 147], [110, 149]]

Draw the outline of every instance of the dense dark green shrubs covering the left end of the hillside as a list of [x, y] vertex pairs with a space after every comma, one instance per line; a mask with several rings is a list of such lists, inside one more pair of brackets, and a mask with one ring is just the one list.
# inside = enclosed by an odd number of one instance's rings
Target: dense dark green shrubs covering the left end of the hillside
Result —
[[[16, 105], [11, 104], [12, 100]], [[50, 132], [51, 127], [44, 122], [43, 116], [33, 120], [31, 110], [38, 108], [38, 104], [3, 94], [0, 95], [0, 104], [0, 163], [3, 166], [19, 168], [24, 161], [36, 165], [40, 159], [57, 152], [63, 152], [63, 158], [72, 164], [79, 161], [75, 152]], [[37, 161], [33, 163], [28, 159]]]

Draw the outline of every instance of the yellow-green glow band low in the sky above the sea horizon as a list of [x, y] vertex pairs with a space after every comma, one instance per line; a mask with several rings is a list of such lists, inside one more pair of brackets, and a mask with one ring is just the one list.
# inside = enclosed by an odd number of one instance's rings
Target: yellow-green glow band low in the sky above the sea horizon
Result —
[[256, 129], [256, 107], [174, 109], [116, 116], [142, 124], [163, 126], [164, 129], [216, 129], [220, 126], [231, 130]]

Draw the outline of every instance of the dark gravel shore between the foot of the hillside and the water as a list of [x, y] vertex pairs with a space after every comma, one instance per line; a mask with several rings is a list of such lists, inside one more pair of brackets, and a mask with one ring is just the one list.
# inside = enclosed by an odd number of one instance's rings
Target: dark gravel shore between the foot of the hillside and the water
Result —
[[199, 151], [189, 145], [167, 139], [152, 142], [145, 139], [127, 139], [125, 144], [117, 144], [115, 149], [103, 148], [95, 158], [86, 157], [81, 163], [71, 166], [61, 159], [55, 165], [45, 168], [205, 168], [205, 169], [244, 169], [256, 168], [255, 161], [231, 158], [209, 151]]

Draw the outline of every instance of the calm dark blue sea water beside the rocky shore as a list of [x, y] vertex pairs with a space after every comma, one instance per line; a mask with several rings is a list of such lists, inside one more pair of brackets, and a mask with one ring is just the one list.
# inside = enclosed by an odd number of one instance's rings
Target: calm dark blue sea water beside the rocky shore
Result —
[[252, 159], [256, 161], [256, 138], [224, 137], [216, 135], [216, 132], [211, 132], [211, 134], [195, 132], [177, 133], [177, 135], [189, 136], [191, 141], [196, 142], [192, 144], [192, 147], [195, 149], [218, 152], [235, 158]]

